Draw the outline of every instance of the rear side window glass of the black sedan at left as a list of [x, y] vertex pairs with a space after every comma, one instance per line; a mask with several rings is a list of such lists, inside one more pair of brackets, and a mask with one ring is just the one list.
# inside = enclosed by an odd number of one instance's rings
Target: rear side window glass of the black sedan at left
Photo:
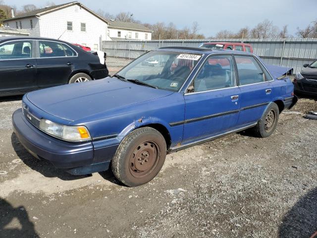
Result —
[[39, 43], [41, 58], [76, 56], [76, 52], [65, 44], [53, 41], [40, 41]]

